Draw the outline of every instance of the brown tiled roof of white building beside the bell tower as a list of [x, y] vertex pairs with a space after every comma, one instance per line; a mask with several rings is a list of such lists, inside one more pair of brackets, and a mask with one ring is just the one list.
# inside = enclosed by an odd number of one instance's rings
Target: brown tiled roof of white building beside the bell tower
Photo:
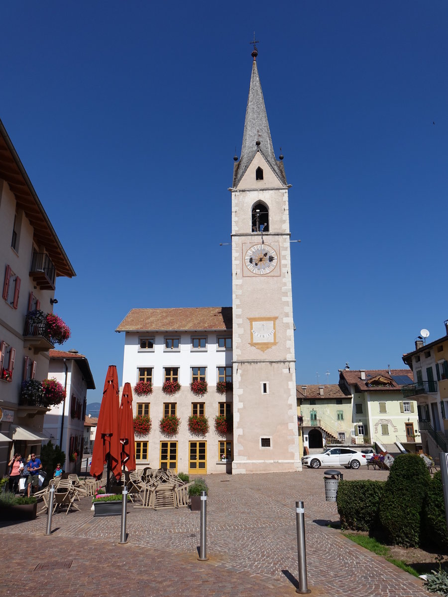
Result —
[[131, 309], [116, 332], [232, 330], [232, 307]]

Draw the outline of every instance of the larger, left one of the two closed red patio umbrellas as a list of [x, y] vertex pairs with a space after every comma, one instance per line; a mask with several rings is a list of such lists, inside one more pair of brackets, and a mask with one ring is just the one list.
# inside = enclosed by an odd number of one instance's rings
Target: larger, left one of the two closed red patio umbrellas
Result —
[[107, 464], [109, 487], [109, 471], [112, 471], [116, 479], [121, 477], [120, 454], [118, 374], [115, 365], [109, 365], [98, 416], [90, 474], [97, 479], [101, 478], [104, 465]]

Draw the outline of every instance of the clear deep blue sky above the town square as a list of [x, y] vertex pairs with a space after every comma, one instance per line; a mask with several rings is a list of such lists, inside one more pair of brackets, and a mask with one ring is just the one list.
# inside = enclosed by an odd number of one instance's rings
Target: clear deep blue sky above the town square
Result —
[[121, 380], [131, 308], [232, 303], [219, 243], [254, 31], [302, 241], [297, 383], [398, 368], [421, 328], [444, 335], [444, 0], [23, 0], [1, 22], [0, 118], [77, 273], [55, 312], [90, 362], [88, 402], [109, 364]]

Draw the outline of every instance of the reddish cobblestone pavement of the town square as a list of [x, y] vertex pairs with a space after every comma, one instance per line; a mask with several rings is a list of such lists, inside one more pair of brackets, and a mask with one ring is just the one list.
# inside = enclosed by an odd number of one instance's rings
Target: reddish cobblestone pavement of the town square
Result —
[[[386, 472], [343, 471], [345, 479], [385, 479]], [[199, 562], [200, 516], [187, 508], [130, 507], [128, 543], [118, 544], [120, 517], [94, 518], [90, 498], [80, 512], [0, 523], [0, 595], [110, 597], [183, 595], [185, 590], [232, 597], [294, 595], [297, 583], [295, 501], [305, 505], [306, 559], [311, 595], [321, 597], [426, 596], [404, 573], [339, 531], [325, 501], [322, 470], [265, 475], [208, 475], [207, 562]], [[62, 570], [38, 564], [68, 562]], [[68, 565], [67, 564], [67, 565]]]

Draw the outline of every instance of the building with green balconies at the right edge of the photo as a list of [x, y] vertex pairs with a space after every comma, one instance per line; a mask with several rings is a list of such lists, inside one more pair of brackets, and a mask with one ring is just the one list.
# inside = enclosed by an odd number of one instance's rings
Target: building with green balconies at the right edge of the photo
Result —
[[444, 325], [445, 336], [428, 344], [419, 337], [415, 350], [403, 355], [414, 373], [413, 383], [402, 388], [403, 398], [416, 400], [423, 450], [434, 458], [448, 451], [448, 320]]

